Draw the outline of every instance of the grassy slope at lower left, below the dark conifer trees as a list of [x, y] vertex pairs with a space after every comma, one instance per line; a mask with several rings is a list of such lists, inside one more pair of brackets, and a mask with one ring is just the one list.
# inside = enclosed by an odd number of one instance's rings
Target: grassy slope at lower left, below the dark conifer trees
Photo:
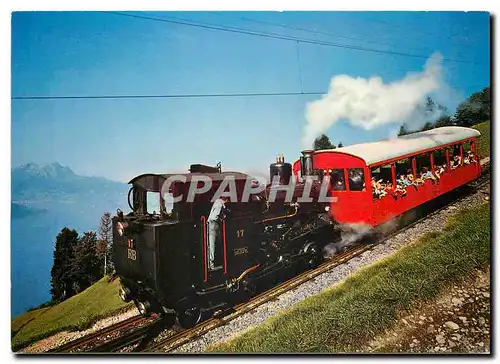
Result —
[[119, 280], [104, 277], [57, 305], [25, 312], [12, 320], [12, 348], [17, 350], [63, 330], [82, 330], [95, 321], [132, 307], [118, 297]]

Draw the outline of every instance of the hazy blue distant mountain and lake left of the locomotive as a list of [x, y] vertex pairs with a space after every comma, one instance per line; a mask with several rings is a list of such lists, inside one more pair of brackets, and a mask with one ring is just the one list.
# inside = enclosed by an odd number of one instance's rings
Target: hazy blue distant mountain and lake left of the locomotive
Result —
[[129, 211], [125, 183], [79, 176], [59, 163], [11, 171], [12, 315], [50, 299], [54, 242], [67, 226], [97, 230], [105, 212]]

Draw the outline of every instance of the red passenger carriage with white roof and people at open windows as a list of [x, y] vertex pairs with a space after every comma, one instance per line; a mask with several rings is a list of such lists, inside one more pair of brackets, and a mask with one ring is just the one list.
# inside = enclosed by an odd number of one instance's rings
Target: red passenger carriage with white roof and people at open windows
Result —
[[297, 178], [312, 161], [312, 173], [330, 177], [337, 197], [331, 215], [340, 224], [375, 227], [462, 186], [481, 173], [477, 137], [449, 126], [395, 139], [303, 152], [293, 165]]

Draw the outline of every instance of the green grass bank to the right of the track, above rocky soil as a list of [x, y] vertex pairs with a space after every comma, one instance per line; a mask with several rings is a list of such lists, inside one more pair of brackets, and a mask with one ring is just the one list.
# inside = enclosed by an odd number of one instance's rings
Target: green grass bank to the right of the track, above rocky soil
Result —
[[490, 227], [489, 204], [460, 212], [440, 233], [208, 351], [354, 352], [391, 327], [398, 313], [488, 266]]

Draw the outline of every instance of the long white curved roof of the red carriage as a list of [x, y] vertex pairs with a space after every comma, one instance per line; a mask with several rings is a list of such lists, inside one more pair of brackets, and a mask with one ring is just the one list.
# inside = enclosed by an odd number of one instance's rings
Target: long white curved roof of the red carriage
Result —
[[476, 129], [461, 126], [444, 126], [394, 139], [349, 145], [337, 149], [318, 150], [315, 153], [347, 153], [363, 159], [367, 165], [372, 165], [480, 135], [481, 133]]

